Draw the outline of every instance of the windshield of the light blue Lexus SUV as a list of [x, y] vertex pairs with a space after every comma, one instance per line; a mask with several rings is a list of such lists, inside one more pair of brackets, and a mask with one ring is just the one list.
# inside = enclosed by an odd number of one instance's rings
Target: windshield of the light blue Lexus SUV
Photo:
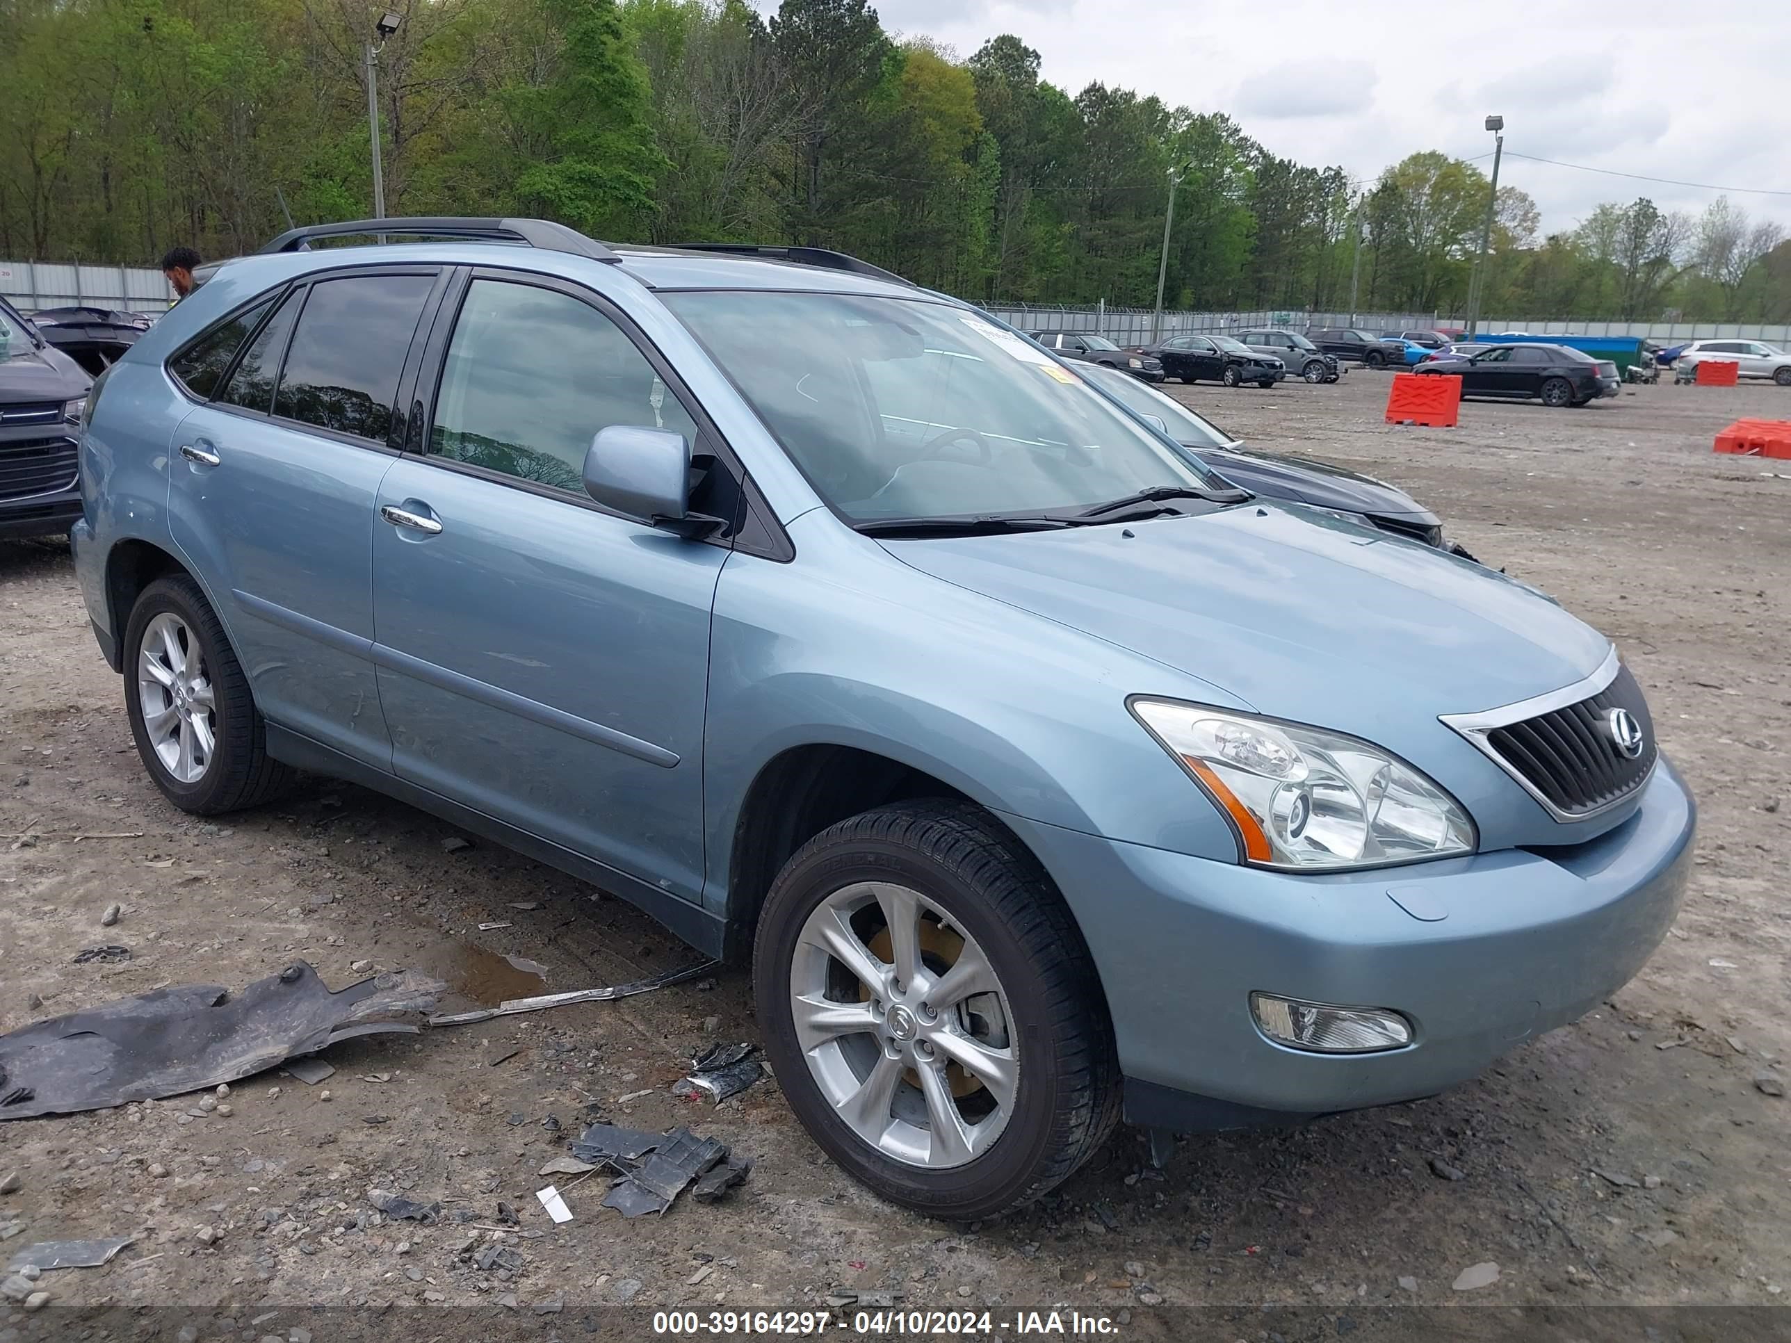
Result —
[[964, 308], [854, 294], [663, 297], [849, 521], [1229, 489], [1026, 338]]

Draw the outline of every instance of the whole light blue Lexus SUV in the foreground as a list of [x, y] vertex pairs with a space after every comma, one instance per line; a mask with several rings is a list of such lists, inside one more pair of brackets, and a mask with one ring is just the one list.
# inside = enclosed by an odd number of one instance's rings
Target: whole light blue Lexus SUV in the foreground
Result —
[[750, 962], [815, 1141], [940, 1216], [1121, 1110], [1470, 1078], [1635, 974], [1691, 863], [1601, 634], [833, 252], [294, 231], [106, 372], [81, 480], [176, 806], [353, 779]]

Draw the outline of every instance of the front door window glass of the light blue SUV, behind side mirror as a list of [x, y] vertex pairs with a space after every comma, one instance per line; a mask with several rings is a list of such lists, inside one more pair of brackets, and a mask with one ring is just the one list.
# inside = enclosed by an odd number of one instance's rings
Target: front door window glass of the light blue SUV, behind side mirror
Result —
[[697, 423], [609, 317], [570, 294], [475, 279], [460, 306], [430, 451], [555, 489], [584, 492], [584, 457], [611, 424]]

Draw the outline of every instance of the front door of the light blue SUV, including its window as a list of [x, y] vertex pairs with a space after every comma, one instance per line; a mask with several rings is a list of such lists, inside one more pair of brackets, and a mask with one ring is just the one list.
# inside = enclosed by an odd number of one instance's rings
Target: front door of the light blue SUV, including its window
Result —
[[437, 328], [428, 435], [385, 476], [373, 537], [394, 770], [697, 901], [709, 612], [729, 550], [582, 487], [598, 430], [697, 442], [697, 424], [584, 290], [476, 276], [451, 331]]

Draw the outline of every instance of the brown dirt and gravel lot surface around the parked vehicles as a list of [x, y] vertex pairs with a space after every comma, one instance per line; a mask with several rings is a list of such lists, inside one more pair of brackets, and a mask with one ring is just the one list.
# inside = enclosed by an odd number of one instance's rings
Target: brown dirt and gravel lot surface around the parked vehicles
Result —
[[[313, 1304], [505, 1293], [514, 1311], [476, 1318], [566, 1338], [647, 1336], [648, 1316], [614, 1313], [621, 1302], [815, 1307], [840, 1289], [992, 1305], [998, 1323], [1060, 1302], [1125, 1320], [1121, 1332], [1227, 1339], [1336, 1336], [1358, 1320], [1436, 1336], [1422, 1323], [1436, 1316], [1390, 1304], [1791, 1300], [1778, 1295], [1791, 1286], [1791, 1101], [1755, 1085], [1770, 1065], [1791, 1073], [1791, 462], [1710, 451], [1737, 415], [1791, 415], [1791, 390], [1469, 405], [1453, 430], [1384, 424], [1374, 372], [1173, 390], [1254, 446], [1408, 487], [1470, 550], [1619, 643], [1703, 820], [1678, 928], [1603, 1010], [1429, 1101], [1182, 1139], [1164, 1178], [1139, 1178], [1144, 1148], [1123, 1130], [1046, 1203], [973, 1228], [847, 1182], [774, 1083], [715, 1110], [672, 1094], [693, 1049], [756, 1039], [738, 971], [625, 1003], [374, 1037], [333, 1049], [322, 1085], [238, 1083], [227, 1117], [192, 1116], [197, 1098], [183, 1098], [0, 1128], [0, 1180], [20, 1176], [0, 1194], [0, 1234], [23, 1223], [0, 1257], [32, 1241], [138, 1237], [106, 1268], [47, 1273], [43, 1314], [0, 1302], [0, 1338], [75, 1336], [56, 1316], [66, 1305], [167, 1307], [111, 1316], [120, 1338], [190, 1325], [254, 1339], [287, 1338]], [[331, 985], [362, 978], [355, 962], [419, 967], [462, 1005], [541, 992], [505, 953], [544, 963], [548, 990], [697, 958], [618, 901], [489, 843], [450, 851], [441, 822], [331, 781], [224, 824], [174, 811], [138, 765], [59, 544], [0, 543], [0, 834], [13, 836], [0, 840], [0, 1030], [158, 985], [238, 987], [297, 958]], [[122, 920], [100, 928], [115, 901]], [[131, 960], [72, 963], [97, 944], [127, 945]], [[639, 1221], [598, 1207], [598, 1182], [550, 1176], [577, 1214], [553, 1225], [537, 1171], [591, 1114], [691, 1125], [756, 1168], [731, 1202], [681, 1200]], [[381, 1223], [369, 1187], [441, 1200], [473, 1223]], [[482, 1230], [498, 1200], [519, 1230]], [[457, 1257], [475, 1234], [505, 1239], [521, 1268]], [[1494, 1284], [1453, 1289], [1483, 1262], [1499, 1266]], [[1209, 1309], [1178, 1314], [1189, 1305]], [[349, 1316], [330, 1318], [337, 1327], [306, 1325], [321, 1343], [346, 1336]], [[473, 1325], [450, 1320], [473, 1318], [441, 1311], [381, 1332], [458, 1338]], [[1739, 1318], [1791, 1329], [1791, 1313]], [[1497, 1336], [1510, 1318], [1449, 1320]]]

